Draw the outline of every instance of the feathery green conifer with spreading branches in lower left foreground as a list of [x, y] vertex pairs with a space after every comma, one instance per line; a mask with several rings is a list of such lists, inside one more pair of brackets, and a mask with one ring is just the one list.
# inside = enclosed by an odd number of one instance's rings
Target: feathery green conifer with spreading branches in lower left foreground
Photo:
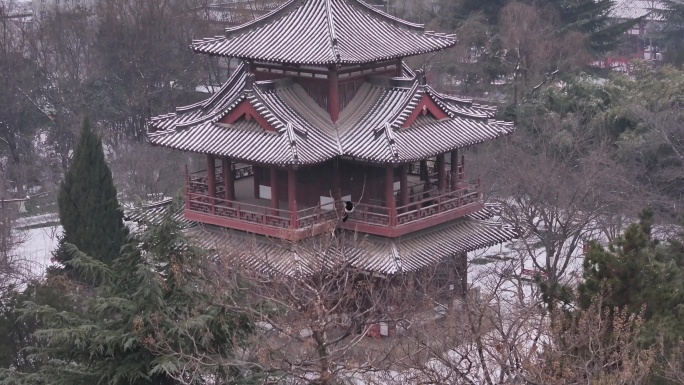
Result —
[[[182, 234], [174, 210], [143, 224], [110, 266], [66, 244], [65, 263], [100, 285], [73, 283], [61, 309], [26, 301], [19, 320], [39, 325], [27, 348], [39, 365], [0, 372], [0, 384], [204, 384], [248, 375], [232, 352], [244, 348], [252, 324], [233, 311], [232, 288], [207, 281], [207, 254]], [[184, 359], [196, 367], [210, 355], [223, 365], [185, 372]]]

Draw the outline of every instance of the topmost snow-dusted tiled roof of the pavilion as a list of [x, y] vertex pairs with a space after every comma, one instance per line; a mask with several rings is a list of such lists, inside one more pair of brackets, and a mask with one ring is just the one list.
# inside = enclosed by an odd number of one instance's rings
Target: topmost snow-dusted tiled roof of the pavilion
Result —
[[289, 64], [359, 64], [438, 51], [453, 35], [426, 32], [359, 0], [291, 0], [226, 36], [196, 40], [196, 52]]

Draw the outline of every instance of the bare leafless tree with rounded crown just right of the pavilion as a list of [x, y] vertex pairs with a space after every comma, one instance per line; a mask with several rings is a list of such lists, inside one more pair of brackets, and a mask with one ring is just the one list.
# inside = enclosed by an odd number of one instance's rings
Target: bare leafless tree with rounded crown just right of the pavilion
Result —
[[533, 111], [525, 125], [492, 148], [484, 169], [503, 216], [524, 233], [516, 243], [522, 265], [553, 287], [579, 272], [586, 242], [622, 230], [624, 218], [642, 208], [643, 195], [579, 116]]

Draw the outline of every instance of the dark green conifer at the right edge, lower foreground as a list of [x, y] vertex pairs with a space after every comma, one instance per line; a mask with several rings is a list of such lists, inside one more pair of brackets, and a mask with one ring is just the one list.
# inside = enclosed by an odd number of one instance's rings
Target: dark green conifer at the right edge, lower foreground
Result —
[[[652, 236], [652, 224], [652, 213], [644, 211], [640, 222], [630, 225], [608, 249], [592, 245], [584, 259], [578, 305], [587, 309], [601, 295], [602, 287], [607, 286], [608, 295], [602, 302], [604, 312], [611, 319], [616, 309], [643, 314], [640, 345], [657, 346], [660, 354], [669, 357], [684, 338], [684, 237], [661, 242]], [[616, 332], [619, 335], [622, 331]], [[654, 369], [647, 383], [670, 383], [660, 377], [663, 367], [656, 363]]]

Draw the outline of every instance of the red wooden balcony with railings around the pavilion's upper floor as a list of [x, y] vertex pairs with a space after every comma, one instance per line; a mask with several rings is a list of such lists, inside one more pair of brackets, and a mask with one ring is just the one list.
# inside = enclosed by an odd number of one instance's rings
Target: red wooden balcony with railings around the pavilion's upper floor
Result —
[[[220, 170], [220, 169], [219, 169]], [[395, 190], [395, 208], [385, 207], [383, 200], [364, 199], [354, 202], [356, 208], [349, 220], [341, 223], [342, 202], [298, 207], [292, 212], [288, 200], [279, 200], [279, 208], [270, 199], [256, 198], [251, 166], [233, 170], [234, 200], [223, 199], [221, 172], [216, 174], [216, 197], [207, 194], [206, 173], [189, 174], [186, 185], [185, 217], [217, 226], [249, 231], [286, 239], [320, 234], [334, 222], [337, 226], [362, 233], [397, 237], [444, 223], [482, 209], [478, 184], [459, 182], [456, 190], [439, 191], [437, 181], [425, 183], [417, 175], [409, 175], [408, 204], [399, 206]]]

